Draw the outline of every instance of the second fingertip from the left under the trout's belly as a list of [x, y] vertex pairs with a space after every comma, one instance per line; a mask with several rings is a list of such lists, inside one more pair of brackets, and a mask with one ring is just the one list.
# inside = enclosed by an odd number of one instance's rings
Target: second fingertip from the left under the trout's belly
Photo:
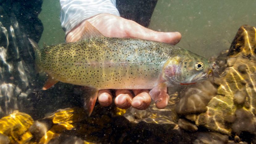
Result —
[[115, 104], [118, 108], [130, 108], [133, 94], [130, 90], [116, 90]]

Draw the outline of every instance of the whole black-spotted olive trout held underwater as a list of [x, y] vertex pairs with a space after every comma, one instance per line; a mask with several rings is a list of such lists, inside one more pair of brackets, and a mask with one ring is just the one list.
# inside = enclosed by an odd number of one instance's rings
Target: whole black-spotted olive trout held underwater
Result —
[[78, 42], [35, 49], [36, 66], [48, 73], [43, 90], [58, 81], [90, 88], [85, 108], [91, 114], [102, 89], [151, 89], [157, 103], [167, 87], [205, 80], [211, 72], [206, 58], [180, 47], [149, 40], [103, 36], [89, 22]]

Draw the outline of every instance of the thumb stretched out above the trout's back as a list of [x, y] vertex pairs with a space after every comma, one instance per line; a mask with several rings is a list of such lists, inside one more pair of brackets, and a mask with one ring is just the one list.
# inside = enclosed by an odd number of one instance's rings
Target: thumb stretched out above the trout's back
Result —
[[127, 23], [130, 23], [130, 26], [127, 27], [126, 33], [132, 38], [153, 40], [169, 44], [177, 44], [181, 40], [181, 33], [179, 32], [156, 32], [139, 25], [134, 21], [129, 21]]

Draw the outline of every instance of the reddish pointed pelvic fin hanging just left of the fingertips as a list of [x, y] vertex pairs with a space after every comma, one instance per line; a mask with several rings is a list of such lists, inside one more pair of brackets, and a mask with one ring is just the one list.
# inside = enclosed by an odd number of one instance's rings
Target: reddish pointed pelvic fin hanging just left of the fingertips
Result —
[[85, 108], [85, 110], [88, 112], [88, 115], [90, 116], [95, 106], [99, 90], [95, 88], [89, 88], [89, 87], [83, 87], [81, 90], [82, 90], [82, 97], [84, 101], [83, 107]]

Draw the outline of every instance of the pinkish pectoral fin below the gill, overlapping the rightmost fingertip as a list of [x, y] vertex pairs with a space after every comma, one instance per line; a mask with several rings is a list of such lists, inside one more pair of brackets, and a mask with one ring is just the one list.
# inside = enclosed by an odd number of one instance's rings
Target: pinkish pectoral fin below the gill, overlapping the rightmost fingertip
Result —
[[167, 86], [165, 83], [159, 83], [156, 87], [154, 87], [151, 91], [149, 91], [149, 95], [155, 103], [160, 102], [166, 96]]

